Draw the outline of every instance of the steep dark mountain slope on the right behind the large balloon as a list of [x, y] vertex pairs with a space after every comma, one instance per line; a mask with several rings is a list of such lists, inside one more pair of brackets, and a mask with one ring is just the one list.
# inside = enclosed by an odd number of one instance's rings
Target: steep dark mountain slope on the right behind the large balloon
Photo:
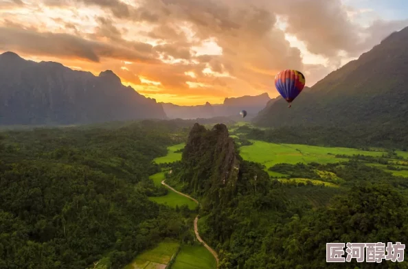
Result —
[[406, 133], [407, 125], [401, 123], [408, 117], [407, 47], [408, 27], [317, 82], [297, 97], [291, 109], [282, 98], [271, 100], [254, 122], [268, 127], [359, 127]]

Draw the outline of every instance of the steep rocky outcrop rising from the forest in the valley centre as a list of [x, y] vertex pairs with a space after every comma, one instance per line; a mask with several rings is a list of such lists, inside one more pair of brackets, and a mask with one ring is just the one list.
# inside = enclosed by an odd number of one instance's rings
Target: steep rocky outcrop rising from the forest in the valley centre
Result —
[[194, 124], [183, 150], [180, 180], [188, 191], [207, 198], [205, 207], [223, 204], [236, 194], [241, 159], [227, 126], [216, 124], [207, 130]]

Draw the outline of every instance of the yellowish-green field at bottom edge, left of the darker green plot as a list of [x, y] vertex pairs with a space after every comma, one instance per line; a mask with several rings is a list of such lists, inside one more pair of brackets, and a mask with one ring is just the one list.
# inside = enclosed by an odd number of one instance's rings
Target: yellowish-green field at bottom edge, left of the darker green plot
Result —
[[177, 242], [161, 242], [156, 248], [137, 255], [124, 269], [164, 269], [179, 245]]

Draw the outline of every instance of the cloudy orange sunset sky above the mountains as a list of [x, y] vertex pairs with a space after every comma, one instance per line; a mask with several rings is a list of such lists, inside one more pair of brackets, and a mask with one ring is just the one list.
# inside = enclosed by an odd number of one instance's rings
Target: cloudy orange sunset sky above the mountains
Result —
[[157, 102], [278, 95], [275, 74], [313, 86], [408, 26], [406, 0], [0, 0], [0, 53], [61, 62]]

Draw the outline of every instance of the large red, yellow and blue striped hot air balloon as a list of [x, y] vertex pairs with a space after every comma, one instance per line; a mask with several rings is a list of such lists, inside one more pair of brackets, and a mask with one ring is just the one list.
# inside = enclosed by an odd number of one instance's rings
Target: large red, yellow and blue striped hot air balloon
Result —
[[305, 82], [304, 75], [296, 70], [286, 69], [275, 75], [276, 89], [289, 103], [289, 108], [292, 106], [292, 101], [303, 90]]

